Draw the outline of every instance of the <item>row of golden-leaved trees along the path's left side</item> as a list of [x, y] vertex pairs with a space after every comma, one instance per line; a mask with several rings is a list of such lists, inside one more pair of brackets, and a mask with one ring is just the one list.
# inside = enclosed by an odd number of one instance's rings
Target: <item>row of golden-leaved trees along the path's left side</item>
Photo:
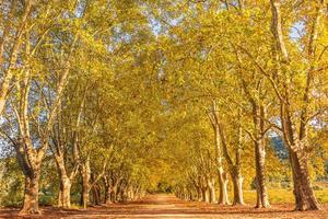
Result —
[[140, 108], [153, 103], [145, 102], [143, 47], [154, 36], [141, 3], [0, 5], [1, 159], [11, 163], [15, 154], [22, 170], [21, 212], [39, 212], [39, 188], [51, 184], [44, 175], [54, 169], [58, 207], [71, 207], [72, 186], [84, 208], [142, 196], [154, 138], [145, 127], [153, 108]]

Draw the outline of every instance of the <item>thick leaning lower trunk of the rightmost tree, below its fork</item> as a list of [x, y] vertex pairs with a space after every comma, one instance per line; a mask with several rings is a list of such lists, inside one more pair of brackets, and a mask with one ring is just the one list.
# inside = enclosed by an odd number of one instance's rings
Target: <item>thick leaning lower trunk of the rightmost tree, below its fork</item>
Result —
[[290, 150], [290, 159], [294, 180], [295, 210], [318, 210], [319, 204], [309, 182], [306, 154]]

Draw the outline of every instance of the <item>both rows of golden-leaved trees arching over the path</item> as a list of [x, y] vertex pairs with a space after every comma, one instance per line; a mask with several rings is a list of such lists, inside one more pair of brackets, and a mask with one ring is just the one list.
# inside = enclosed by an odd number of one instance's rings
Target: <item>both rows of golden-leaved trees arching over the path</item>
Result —
[[[1, 150], [22, 170], [22, 212], [38, 212], [49, 166], [66, 208], [72, 186], [86, 207], [90, 193], [94, 204], [125, 200], [160, 181], [207, 201], [219, 185], [220, 204], [232, 182], [243, 204], [254, 176], [257, 207], [269, 207], [267, 177], [280, 170], [291, 172], [296, 209], [319, 208], [311, 177], [320, 173], [308, 166], [325, 160], [325, 0], [0, 8]], [[271, 137], [283, 139], [290, 169], [267, 148]]]

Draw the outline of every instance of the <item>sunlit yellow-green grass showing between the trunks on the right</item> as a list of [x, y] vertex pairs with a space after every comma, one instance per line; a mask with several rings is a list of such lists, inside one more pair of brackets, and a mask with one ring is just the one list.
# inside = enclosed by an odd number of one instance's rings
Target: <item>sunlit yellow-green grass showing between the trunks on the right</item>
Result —
[[[292, 189], [269, 189], [270, 204], [293, 204], [294, 195]], [[328, 204], [328, 189], [315, 191], [319, 203]], [[256, 191], [244, 191], [246, 204], [256, 204]]]

